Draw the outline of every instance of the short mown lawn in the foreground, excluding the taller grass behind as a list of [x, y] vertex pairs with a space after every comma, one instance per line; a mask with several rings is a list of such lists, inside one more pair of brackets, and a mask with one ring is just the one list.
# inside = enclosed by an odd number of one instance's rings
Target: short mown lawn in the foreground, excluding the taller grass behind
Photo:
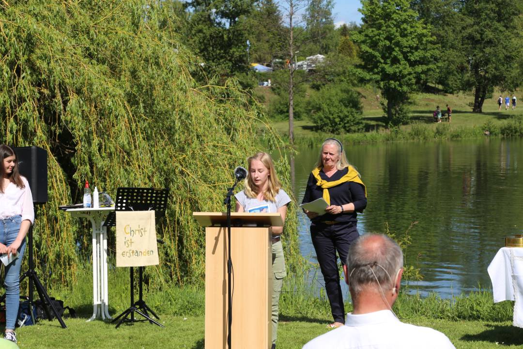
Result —
[[[67, 329], [54, 321], [41, 321], [35, 326], [17, 330], [20, 348], [71, 349], [71, 348], [193, 348], [204, 344], [203, 316], [172, 316], [160, 314], [166, 328], [141, 322], [122, 325], [119, 329], [108, 322], [85, 319], [65, 319]], [[278, 348], [301, 348], [314, 337], [327, 332], [328, 318], [297, 318], [280, 316]], [[468, 348], [520, 348], [523, 329], [513, 327], [510, 321], [451, 321], [429, 317], [402, 318], [404, 322], [423, 325], [445, 333], [454, 346]], [[423, 346], [420, 346], [423, 347]]]

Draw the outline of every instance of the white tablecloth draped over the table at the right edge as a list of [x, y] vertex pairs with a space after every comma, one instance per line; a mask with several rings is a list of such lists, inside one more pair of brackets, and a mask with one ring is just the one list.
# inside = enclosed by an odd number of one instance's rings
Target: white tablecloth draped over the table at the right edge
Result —
[[487, 271], [492, 280], [494, 303], [516, 301], [513, 324], [523, 328], [523, 248], [502, 247]]

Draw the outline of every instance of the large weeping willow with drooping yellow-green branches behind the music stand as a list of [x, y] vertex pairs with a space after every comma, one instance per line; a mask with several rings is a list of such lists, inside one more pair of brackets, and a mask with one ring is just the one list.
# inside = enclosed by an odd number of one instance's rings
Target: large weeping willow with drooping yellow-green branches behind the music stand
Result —
[[[197, 85], [199, 62], [179, 45], [162, 5], [0, 4], [0, 132], [2, 142], [48, 151], [49, 202], [35, 243], [37, 267], [54, 283], [74, 280], [89, 256], [87, 227], [58, 210], [81, 202], [85, 179], [112, 195], [120, 186], [169, 188], [157, 230], [166, 242], [161, 263], [147, 269], [165, 282], [200, 282], [204, 237], [191, 213], [223, 210], [231, 168], [261, 149], [258, 111], [234, 81]], [[278, 140], [265, 134], [274, 148]], [[285, 160], [278, 166], [286, 178]]]

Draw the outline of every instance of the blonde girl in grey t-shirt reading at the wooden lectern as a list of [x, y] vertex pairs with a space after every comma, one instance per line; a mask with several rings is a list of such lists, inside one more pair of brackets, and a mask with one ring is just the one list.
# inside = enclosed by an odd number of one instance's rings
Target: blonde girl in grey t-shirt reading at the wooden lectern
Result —
[[[247, 159], [248, 174], [244, 189], [235, 195], [236, 212], [267, 212], [280, 213], [285, 222], [287, 205], [291, 201], [289, 195], [281, 189], [272, 159], [267, 153], [257, 153]], [[278, 330], [278, 301], [280, 299], [285, 270], [285, 257], [280, 235], [283, 227], [272, 227], [272, 348], [276, 347], [276, 331]]]

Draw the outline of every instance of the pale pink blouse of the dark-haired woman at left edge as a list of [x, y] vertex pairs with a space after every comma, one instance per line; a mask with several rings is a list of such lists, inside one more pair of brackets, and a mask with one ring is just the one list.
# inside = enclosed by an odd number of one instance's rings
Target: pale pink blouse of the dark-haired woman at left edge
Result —
[[22, 176], [25, 188], [19, 188], [9, 183], [4, 193], [0, 193], [0, 219], [21, 215], [22, 221], [28, 219], [31, 224], [35, 220], [35, 209], [32, 203], [31, 188], [26, 177]]

